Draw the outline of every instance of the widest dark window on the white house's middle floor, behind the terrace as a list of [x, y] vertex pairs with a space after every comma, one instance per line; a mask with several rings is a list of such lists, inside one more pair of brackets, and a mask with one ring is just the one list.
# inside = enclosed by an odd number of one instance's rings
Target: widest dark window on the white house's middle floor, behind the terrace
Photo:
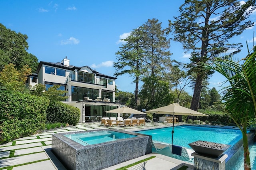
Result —
[[95, 100], [99, 97], [100, 90], [72, 86], [72, 101], [84, 100], [84, 97]]

